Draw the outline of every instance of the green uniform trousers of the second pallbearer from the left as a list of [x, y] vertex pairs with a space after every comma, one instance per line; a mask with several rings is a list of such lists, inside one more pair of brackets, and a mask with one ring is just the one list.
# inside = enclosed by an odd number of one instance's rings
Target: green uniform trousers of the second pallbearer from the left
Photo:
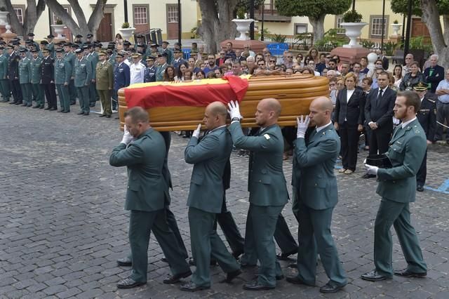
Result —
[[197, 286], [210, 286], [210, 257], [217, 260], [226, 273], [240, 269], [239, 263], [214, 230], [214, 223], [215, 213], [189, 208], [192, 255], [196, 265], [192, 281]]

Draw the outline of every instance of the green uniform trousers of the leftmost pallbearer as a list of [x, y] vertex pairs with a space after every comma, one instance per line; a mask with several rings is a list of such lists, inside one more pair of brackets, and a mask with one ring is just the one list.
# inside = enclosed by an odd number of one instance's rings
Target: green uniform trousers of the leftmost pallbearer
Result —
[[173, 275], [189, 271], [182, 251], [176, 244], [176, 237], [168, 227], [165, 209], [159, 211], [130, 211], [129, 243], [133, 257], [132, 273], [130, 278], [138, 281], [147, 281], [148, 244], [151, 231], [154, 233], [163, 254], [168, 260]]

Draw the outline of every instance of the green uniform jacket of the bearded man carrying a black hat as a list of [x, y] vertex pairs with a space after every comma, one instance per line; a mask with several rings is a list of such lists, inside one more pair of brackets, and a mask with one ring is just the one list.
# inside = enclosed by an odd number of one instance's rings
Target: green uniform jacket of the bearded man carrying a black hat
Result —
[[426, 150], [426, 135], [417, 119], [407, 124], [406, 128], [399, 125], [386, 153], [393, 168], [379, 168], [377, 171], [377, 194], [401, 203], [415, 201], [416, 173]]

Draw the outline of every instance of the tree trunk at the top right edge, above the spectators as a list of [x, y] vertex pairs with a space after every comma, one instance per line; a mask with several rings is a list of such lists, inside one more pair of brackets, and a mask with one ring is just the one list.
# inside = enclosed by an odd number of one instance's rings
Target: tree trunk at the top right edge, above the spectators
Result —
[[421, 0], [422, 20], [429, 29], [434, 52], [438, 55], [438, 64], [448, 67], [449, 51], [445, 44], [443, 29], [441, 28], [438, 8], [435, 0]]

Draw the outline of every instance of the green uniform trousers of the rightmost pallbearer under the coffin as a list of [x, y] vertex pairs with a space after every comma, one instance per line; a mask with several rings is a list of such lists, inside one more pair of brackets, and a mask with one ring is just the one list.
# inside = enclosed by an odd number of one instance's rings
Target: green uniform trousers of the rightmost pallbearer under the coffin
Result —
[[297, 277], [304, 284], [315, 285], [317, 253], [330, 279], [329, 283], [333, 286], [347, 284], [346, 274], [330, 232], [333, 209], [314, 210], [304, 204], [298, 206], [300, 246], [297, 252]]

